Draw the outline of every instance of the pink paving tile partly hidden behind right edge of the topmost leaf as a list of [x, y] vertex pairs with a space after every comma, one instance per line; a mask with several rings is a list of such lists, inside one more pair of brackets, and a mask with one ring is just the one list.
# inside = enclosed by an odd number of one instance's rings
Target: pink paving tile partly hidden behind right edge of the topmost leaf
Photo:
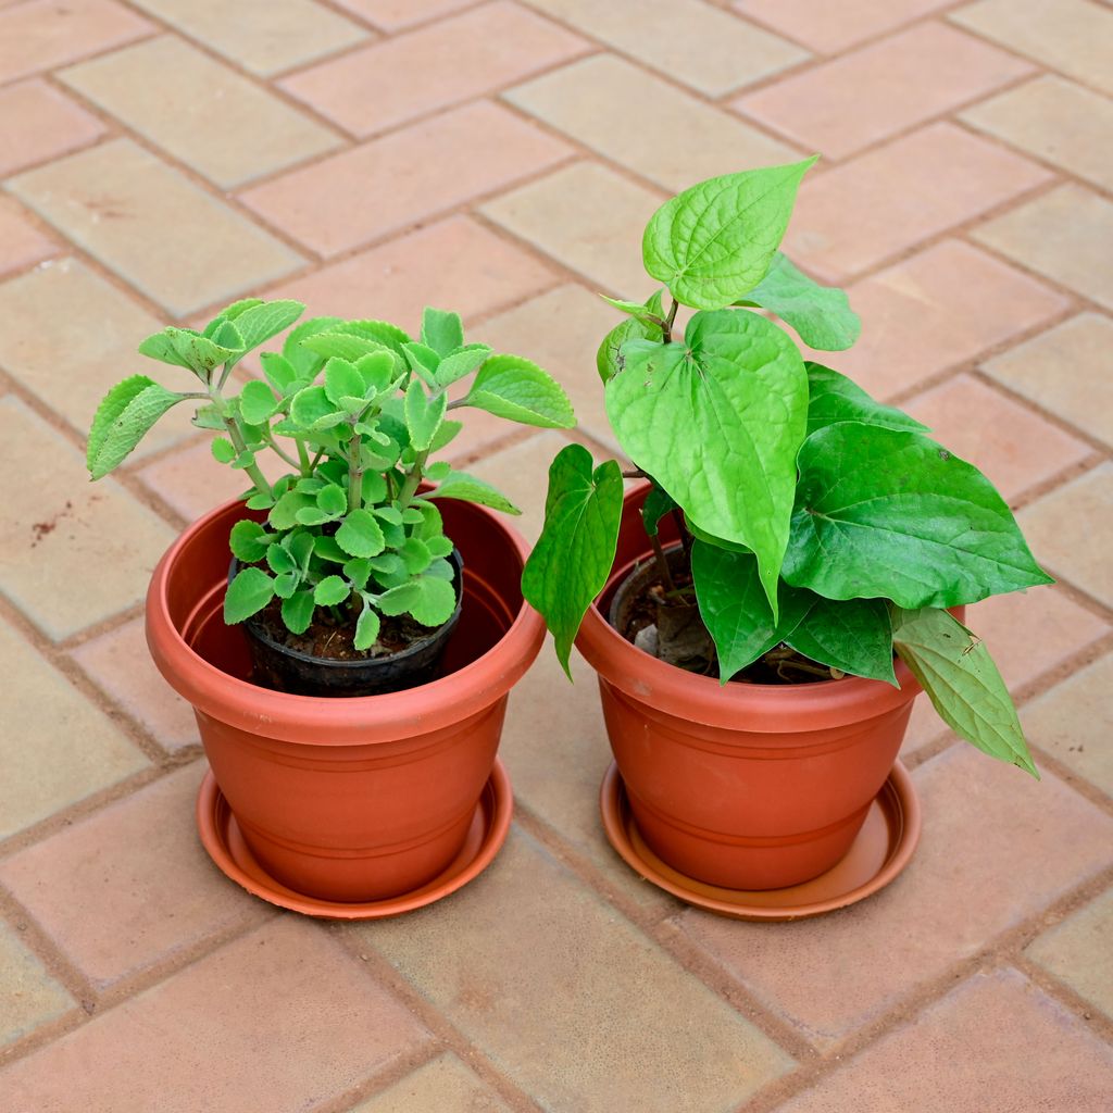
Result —
[[1048, 178], [953, 124], [933, 124], [805, 180], [785, 250], [839, 282]]

